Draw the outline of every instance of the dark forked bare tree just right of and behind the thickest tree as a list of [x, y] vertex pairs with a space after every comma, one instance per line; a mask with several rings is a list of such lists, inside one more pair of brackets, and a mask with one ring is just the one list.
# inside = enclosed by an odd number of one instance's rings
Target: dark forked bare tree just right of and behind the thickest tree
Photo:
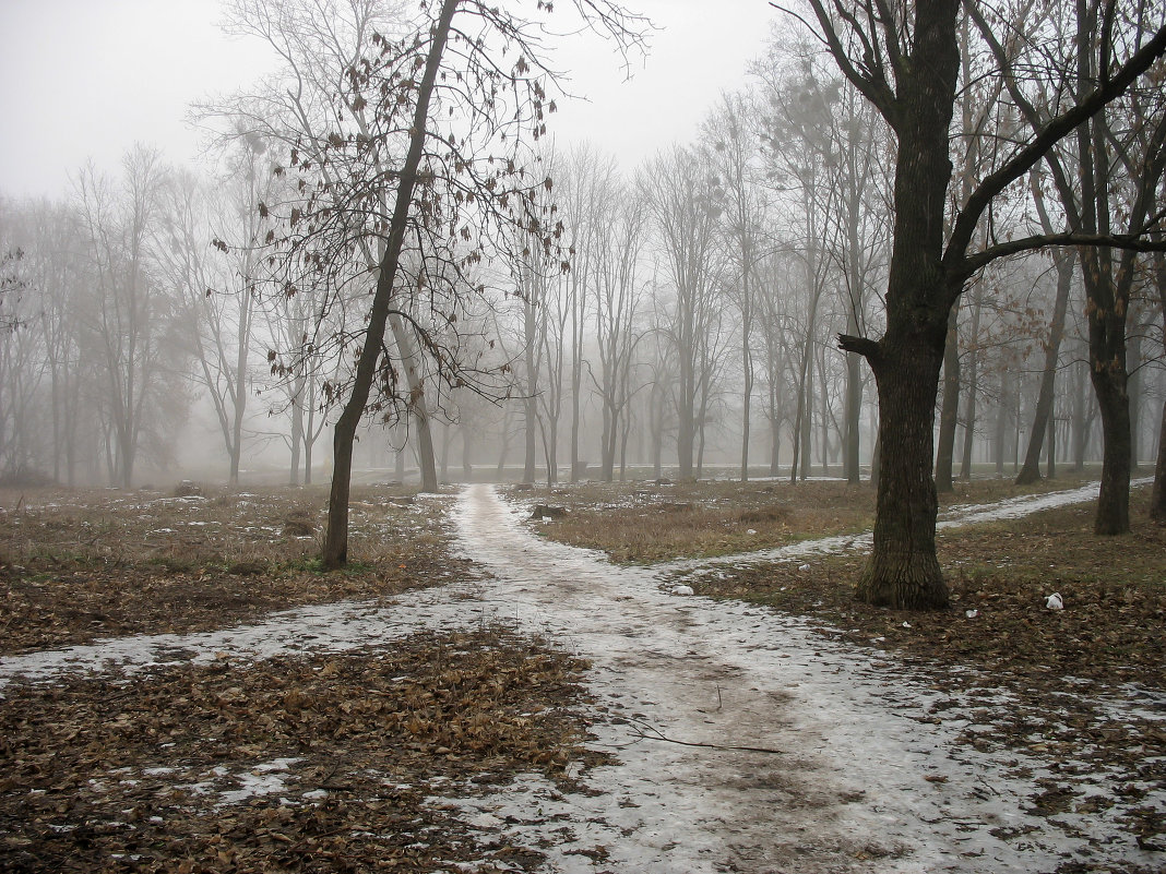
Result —
[[[1138, 248], [1152, 248], [1147, 237], [1161, 223], [1154, 198], [1166, 163], [1166, 114], [1160, 89], [1150, 87], [1140, 97], [1135, 87], [1142, 72], [1166, 51], [1166, 27], [1157, 31], [1139, 6], [1126, 8], [1117, 2], [1076, 3], [1067, 27], [1040, 28], [1035, 21], [1016, 23], [1018, 36], [1025, 28], [1052, 30], [1054, 48], [1063, 57], [1055, 68], [1056, 82], [1033, 94], [1017, 73], [1017, 64], [996, 38], [991, 10], [970, 7], [992, 56], [1004, 71], [1005, 83], [1017, 110], [1034, 131], [1054, 125], [1056, 118], [1038, 106], [1046, 93], [1058, 98], [1054, 106], [1076, 100], [1081, 106], [1093, 98], [1094, 111], [1075, 126], [1067, 140], [1075, 148], [1063, 154], [1058, 136], [1040, 155], [1061, 199], [1073, 231], [1061, 237], [1083, 237], [1094, 245], [1082, 248], [1082, 263], [1089, 319], [1090, 378], [1101, 410], [1104, 454], [1101, 493], [1097, 499], [1097, 534], [1124, 534], [1130, 529], [1130, 467], [1132, 431], [1126, 367], [1126, 322], [1131, 309], [1135, 260]], [[1130, 52], [1130, 61], [1118, 66], [1115, 55]], [[1062, 112], [1061, 118], [1073, 113]], [[1130, 124], [1126, 124], [1130, 122]], [[1076, 167], [1077, 184], [1069, 176], [1067, 161]], [[1072, 167], [1072, 164], [1070, 164]], [[1122, 178], [1124, 176], [1124, 179]], [[1124, 198], [1115, 192], [1124, 188]], [[1124, 224], [1121, 232], [1115, 227]], [[1048, 234], [1046, 234], [1047, 237]], [[1115, 246], [1101, 245], [1115, 242]], [[1118, 252], [1115, 252], [1115, 248]]]

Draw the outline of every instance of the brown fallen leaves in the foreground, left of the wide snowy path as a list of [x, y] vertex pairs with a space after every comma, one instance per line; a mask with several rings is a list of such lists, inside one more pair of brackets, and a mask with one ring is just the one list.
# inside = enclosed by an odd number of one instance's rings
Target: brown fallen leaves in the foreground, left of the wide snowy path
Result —
[[600, 761], [580, 747], [585, 667], [486, 629], [9, 684], [0, 869], [529, 871], [538, 853], [427, 798]]

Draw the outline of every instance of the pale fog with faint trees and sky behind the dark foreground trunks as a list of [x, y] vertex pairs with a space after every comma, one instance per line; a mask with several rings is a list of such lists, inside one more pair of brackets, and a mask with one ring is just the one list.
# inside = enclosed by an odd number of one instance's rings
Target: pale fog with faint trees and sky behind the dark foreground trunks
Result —
[[[326, 481], [415, 89], [385, 97], [405, 73], [382, 48], [426, 33], [415, 5], [65, 6], [0, 13], [0, 75], [21, 83], [0, 106], [0, 481]], [[885, 326], [893, 132], [765, 3], [630, 6], [655, 29], [628, 19], [623, 52], [560, 10], [490, 49], [503, 79], [468, 66], [456, 80], [480, 91], [438, 91], [358, 478], [870, 477], [876, 383], [836, 337]], [[34, 82], [49, 44], [58, 63]], [[487, 119], [503, 80], [513, 97]], [[971, 143], [1014, 121], [1006, 94], [958, 100], [970, 179], [989, 167]], [[1160, 107], [1119, 111], [1137, 112]], [[472, 160], [443, 151], [455, 140]], [[1119, 221], [1144, 176], [1114, 172]], [[1038, 168], [978, 233], [986, 247], [1068, 218]], [[1065, 252], [967, 283], [933, 424], [941, 478], [1102, 458], [1094, 304]], [[1119, 364], [1132, 460], [1153, 464], [1166, 274], [1152, 256], [1129, 273]]]

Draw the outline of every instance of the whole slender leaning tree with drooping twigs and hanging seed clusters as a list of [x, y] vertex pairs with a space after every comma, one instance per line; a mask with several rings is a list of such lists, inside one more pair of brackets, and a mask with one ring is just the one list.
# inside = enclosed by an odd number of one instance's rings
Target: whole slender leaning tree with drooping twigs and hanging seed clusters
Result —
[[[635, 38], [627, 29], [632, 19], [618, 6], [581, 0], [577, 8], [617, 38]], [[541, 12], [552, 14], [550, 5]], [[324, 96], [323, 118], [339, 124], [329, 121], [326, 135], [317, 128], [308, 157], [298, 147], [290, 150], [288, 169], [300, 175], [304, 197], [281, 216], [289, 267], [329, 276], [336, 288], [363, 275], [375, 284], [353, 338], [359, 353], [351, 381], [333, 387], [333, 396], [346, 401], [333, 432], [328, 568], [347, 558], [352, 442], [361, 417], [400, 402], [424, 403], [423, 385], [412, 378], [406, 393], [398, 389], [400, 372], [385, 346], [391, 316], [410, 329], [431, 379], [475, 385], [478, 361], [465, 359], [456, 333], [436, 326], [472, 317], [468, 301], [486, 290], [476, 267], [503, 239], [500, 231], [522, 227], [548, 253], [557, 246], [561, 225], [535, 196], [552, 182], [524, 151], [546, 132], [545, 115], [554, 110], [542, 27], [471, 0], [443, 0], [436, 10], [427, 3], [402, 36], [372, 34], [373, 51], [352, 57], [338, 91]], [[304, 240], [326, 242], [323, 263], [297, 259]], [[364, 269], [352, 270], [361, 258]], [[294, 277], [287, 282], [294, 286]], [[398, 347], [409, 354], [399, 338]], [[420, 375], [407, 365], [407, 378], [410, 371]]]

